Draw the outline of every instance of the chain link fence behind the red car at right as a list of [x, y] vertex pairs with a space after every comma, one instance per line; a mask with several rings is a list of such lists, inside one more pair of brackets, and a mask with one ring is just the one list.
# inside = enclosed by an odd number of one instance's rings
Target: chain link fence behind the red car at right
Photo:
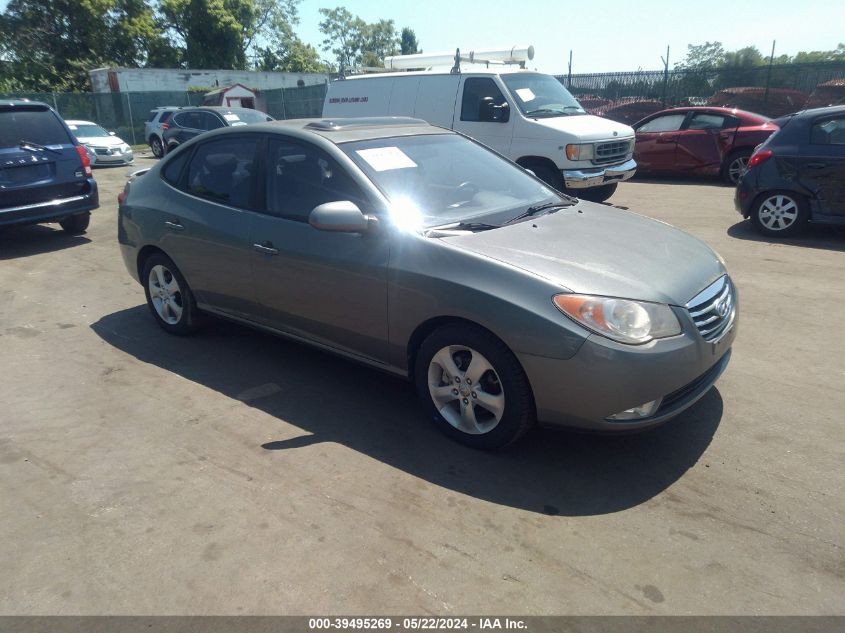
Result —
[[845, 103], [845, 62], [557, 75], [590, 112], [625, 123], [663, 108], [737, 107], [777, 117]]

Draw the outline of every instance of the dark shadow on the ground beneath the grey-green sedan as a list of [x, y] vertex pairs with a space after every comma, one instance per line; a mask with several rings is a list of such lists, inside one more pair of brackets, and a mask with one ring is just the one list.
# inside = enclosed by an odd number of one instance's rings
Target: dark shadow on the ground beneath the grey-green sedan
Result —
[[[711, 389], [674, 421], [645, 433], [540, 427], [509, 449], [485, 453], [440, 434], [406, 381], [308, 346], [219, 320], [193, 337], [169, 336], [145, 305], [91, 327], [145, 363], [309, 434], [256, 450], [336, 442], [445, 489], [548, 515], [605, 514], [647, 501], [696, 464], [722, 417], [721, 396]], [[288, 437], [290, 429], [281, 428]]]

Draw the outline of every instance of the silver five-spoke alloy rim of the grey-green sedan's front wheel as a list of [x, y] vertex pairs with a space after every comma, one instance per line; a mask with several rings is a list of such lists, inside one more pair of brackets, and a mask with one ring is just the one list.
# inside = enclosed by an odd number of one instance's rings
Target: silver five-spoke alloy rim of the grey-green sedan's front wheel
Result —
[[505, 392], [495, 368], [463, 345], [449, 345], [432, 357], [428, 391], [440, 415], [470, 435], [489, 433], [505, 412]]

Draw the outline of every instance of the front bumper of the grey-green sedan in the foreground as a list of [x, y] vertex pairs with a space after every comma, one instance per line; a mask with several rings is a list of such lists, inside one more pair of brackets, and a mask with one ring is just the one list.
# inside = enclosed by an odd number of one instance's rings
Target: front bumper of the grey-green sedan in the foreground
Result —
[[[682, 309], [676, 310], [681, 316]], [[737, 317], [715, 343], [705, 341], [691, 320], [684, 320], [680, 335], [645, 345], [622, 345], [591, 335], [568, 360], [517, 354], [534, 391], [537, 418], [615, 432], [666, 422], [703, 397], [725, 370]], [[662, 403], [649, 417], [607, 419], [658, 398]]]

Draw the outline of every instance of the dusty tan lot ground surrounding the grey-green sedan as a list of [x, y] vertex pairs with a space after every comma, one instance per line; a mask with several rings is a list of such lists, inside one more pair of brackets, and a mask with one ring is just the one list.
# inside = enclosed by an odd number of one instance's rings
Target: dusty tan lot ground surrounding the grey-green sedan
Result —
[[0, 613], [845, 613], [845, 231], [767, 241], [716, 182], [622, 184], [727, 260], [730, 367], [658, 430], [485, 454], [396, 378], [162, 332], [126, 171], [86, 235], [0, 236]]

